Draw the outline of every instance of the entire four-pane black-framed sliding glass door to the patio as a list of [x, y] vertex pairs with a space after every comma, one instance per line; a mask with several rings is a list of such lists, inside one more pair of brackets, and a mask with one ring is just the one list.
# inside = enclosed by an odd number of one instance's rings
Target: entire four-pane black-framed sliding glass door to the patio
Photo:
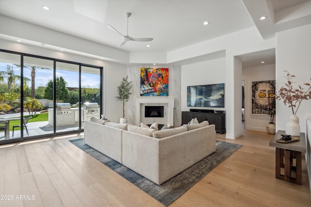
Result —
[[0, 50], [0, 144], [83, 131], [100, 118], [102, 71]]

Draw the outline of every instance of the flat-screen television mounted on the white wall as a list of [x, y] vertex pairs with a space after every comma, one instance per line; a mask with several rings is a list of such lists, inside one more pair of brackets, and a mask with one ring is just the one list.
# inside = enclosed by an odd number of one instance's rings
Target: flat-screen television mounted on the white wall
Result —
[[187, 86], [187, 106], [225, 107], [225, 83]]

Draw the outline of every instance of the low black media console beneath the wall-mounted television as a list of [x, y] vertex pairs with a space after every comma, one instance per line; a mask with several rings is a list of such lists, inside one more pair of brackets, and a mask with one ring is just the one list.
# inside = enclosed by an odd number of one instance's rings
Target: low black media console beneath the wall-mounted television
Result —
[[181, 124], [188, 124], [192, 118], [197, 118], [199, 123], [208, 121], [209, 124], [214, 124], [216, 131], [224, 134], [225, 133], [225, 113], [204, 113], [204, 112], [192, 112], [182, 111], [181, 112]]

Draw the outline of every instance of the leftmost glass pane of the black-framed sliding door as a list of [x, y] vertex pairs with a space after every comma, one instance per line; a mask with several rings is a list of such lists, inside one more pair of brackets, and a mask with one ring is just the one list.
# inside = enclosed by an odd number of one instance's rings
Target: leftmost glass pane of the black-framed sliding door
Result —
[[[0, 52], [0, 144], [9, 140], [21, 141], [21, 70], [20, 55]], [[24, 86], [29, 80], [24, 79]], [[14, 134], [13, 134], [13, 129]]]

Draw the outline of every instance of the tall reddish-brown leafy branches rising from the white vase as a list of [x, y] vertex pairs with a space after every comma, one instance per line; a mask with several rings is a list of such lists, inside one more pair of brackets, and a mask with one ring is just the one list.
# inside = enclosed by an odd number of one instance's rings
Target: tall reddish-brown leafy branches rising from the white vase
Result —
[[[280, 88], [280, 90], [276, 93], [276, 100], [283, 99], [283, 103], [288, 105], [289, 108], [292, 108], [293, 114], [299, 109], [302, 100], [311, 99], [311, 84], [305, 83], [304, 85], [308, 86], [308, 89], [302, 88], [298, 85], [298, 88], [294, 89], [293, 87], [293, 78], [296, 78], [294, 75], [291, 75], [288, 71], [284, 71], [287, 73], [285, 76], [286, 82]], [[310, 79], [311, 80], [311, 79]]]

